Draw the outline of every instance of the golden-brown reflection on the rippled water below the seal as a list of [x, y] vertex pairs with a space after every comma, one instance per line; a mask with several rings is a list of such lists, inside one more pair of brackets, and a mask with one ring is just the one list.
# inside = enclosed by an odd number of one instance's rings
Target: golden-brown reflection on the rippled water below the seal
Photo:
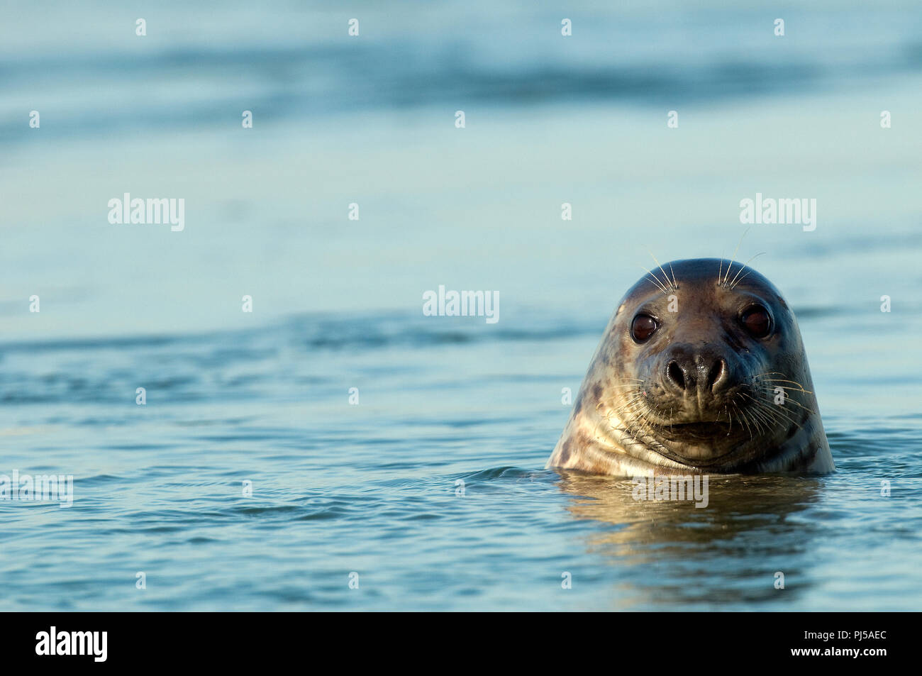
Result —
[[[561, 471], [577, 519], [606, 524], [586, 550], [614, 566], [618, 608], [719, 608], [748, 601], [785, 609], [805, 594], [813, 540], [821, 528], [802, 513], [822, 497], [823, 479], [715, 477], [707, 506], [635, 499], [633, 480]], [[775, 588], [775, 573], [785, 588]]]

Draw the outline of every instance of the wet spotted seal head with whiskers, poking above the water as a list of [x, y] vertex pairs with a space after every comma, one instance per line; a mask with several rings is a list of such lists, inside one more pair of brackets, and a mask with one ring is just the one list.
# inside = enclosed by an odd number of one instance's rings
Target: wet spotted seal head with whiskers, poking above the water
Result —
[[833, 471], [794, 313], [751, 267], [660, 266], [609, 320], [548, 467], [624, 477]]

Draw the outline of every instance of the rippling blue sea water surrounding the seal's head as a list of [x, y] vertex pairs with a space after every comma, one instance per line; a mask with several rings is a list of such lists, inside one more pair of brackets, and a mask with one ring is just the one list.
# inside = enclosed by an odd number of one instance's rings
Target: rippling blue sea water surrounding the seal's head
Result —
[[[0, 26], [0, 475], [74, 495], [0, 501], [0, 609], [916, 610], [916, 5], [50, 7]], [[816, 231], [743, 236], [756, 192]], [[543, 469], [650, 253], [738, 245], [838, 471], [696, 509]]]

